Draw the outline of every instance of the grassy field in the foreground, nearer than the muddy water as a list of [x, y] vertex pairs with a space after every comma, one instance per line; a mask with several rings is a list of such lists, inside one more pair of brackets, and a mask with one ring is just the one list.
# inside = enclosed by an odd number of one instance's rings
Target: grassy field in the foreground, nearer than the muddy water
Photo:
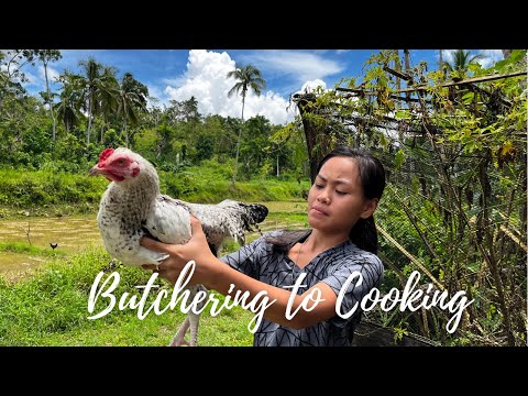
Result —
[[[307, 226], [306, 202], [266, 205], [270, 216], [262, 231]], [[257, 232], [249, 234], [248, 242], [257, 237]], [[238, 248], [234, 242], [227, 243], [224, 253]], [[40, 251], [24, 243], [3, 243], [0, 250], [46, 258], [44, 265], [28, 271], [16, 282], [0, 276], [0, 345], [166, 345], [185, 320], [179, 306], [162, 315], [151, 311], [141, 320], [136, 309], [119, 310], [118, 304], [105, 317], [89, 320], [110, 304], [110, 298], [101, 295], [95, 310], [88, 311], [90, 289], [100, 271], [105, 275], [99, 285], [111, 273], [119, 273], [119, 286], [112, 293], [117, 301], [125, 293], [139, 300], [143, 289], [136, 286], [145, 285], [151, 276], [151, 272], [117, 264], [102, 248], [88, 246], [75, 255]], [[164, 280], [156, 279], [156, 284], [172, 293]], [[148, 294], [145, 309], [157, 290]], [[248, 326], [253, 316], [240, 307], [223, 309], [215, 317], [206, 309], [200, 319], [199, 345], [251, 345], [253, 334]]]

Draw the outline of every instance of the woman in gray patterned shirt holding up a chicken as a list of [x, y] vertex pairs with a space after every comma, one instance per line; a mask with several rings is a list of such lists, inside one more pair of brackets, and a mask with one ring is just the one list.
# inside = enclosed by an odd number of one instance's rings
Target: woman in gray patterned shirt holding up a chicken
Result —
[[[337, 147], [321, 160], [317, 173], [308, 195], [309, 230], [270, 232], [217, 258], [208, 249], [199, 221], [191, 218], [193, 238], [187, 244], [147, 238], [142, 244], [169, 254], [157, 271], [172, 284], [194, 260], [193, 284], [222, 295], [249, 292], [250, 298], [264, 290], [270, 300], [275, 299], [265, 310], [254, 345], [350, 345], [361, 317], [361, 308], [354, 307], [383, 277], [383, 264], [375, 255], [373, 213], [385, 188], [385, 170], [378, 160], [364, 152]], [[154, 265], [144, 267], [155, 270]], [[355, 276], [343, 288], [354, 272], [361, 273], [362, 282]], [[298, 288], [288, 307], [299, 276], [305, 287]], [[232, 284], [235, 288], [229, 290]], [[341, 288], [342, 299], [338, 298]], [[310, 294], [319, 297], [317, 304], [307, 304]], [[351, 311], [354, 314], [348, 318], [341, 315]], [[287, 315], [292, 312], [296, 314]]]

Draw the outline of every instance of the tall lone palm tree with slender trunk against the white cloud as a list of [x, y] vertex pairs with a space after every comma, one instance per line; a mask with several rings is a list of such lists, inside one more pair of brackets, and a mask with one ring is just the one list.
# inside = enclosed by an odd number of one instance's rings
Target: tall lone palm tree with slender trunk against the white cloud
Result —
[[[245, 96], [248, 90], [253, 90], [256, 96], [261, 96], [261, 90], [266, 86], [266, 81], [262, 78], [261, 72], [253, 67], [252, 65], [234, 67], [234, 70], [228, 73], [228, 78], [234, 78], [237, 84], [229, 90], [228, 97], [231, 97], [233, 94], [240, 94], [242, 96], [242, 125], [244, 123], [244, 106], [245, 106]], [[239, 139], [237, 141], [237, 156], [234, 158], [234, 169], [233, 169], [233, 186], [237, 182], [237, 168], [239, 166], [239, 152], [240, 152], [240, 139], [242, 135], [242, 127], [239, 129]]]

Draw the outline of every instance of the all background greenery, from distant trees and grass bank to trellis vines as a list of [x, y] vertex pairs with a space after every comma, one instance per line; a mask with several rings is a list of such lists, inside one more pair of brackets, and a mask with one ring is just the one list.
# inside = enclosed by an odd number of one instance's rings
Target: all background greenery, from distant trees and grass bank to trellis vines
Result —
[[[408, 51], [404, 67], [398, 51], [382, 51], [361, 79], [343, 78], [344, 95], [304, 96], [302, 117], [284, 128], [261, 116], [244, 125], [202, 117], [194, 97], [145, 109], [140, 81], [125, 74], [120, 87], [117, 70], [95, 59], [85, 65], [97, 73], [64, 73], [59, 92], [34, 98], [20, 80], [24, 63], [40, 54], [0, 52], [0, 205], [81, 202], [94, 210], [106, 182], [86, 174], [107, 146], [129, 145], [155, 164], [162, 190], [202, 202], [304, 196], [318, 156], [340, 143], [363, 147], [386, 166], [376, 221], [400, 245], [380, 235], [384, 289], [402, 288], [410, 272], [426, 270], [422, 285], [465, 290], [475, 300], [454, 334], [436, 309], [376, 312], [376, 319], [398, 334], [419, 332], [442, 344], [526, 343], [526, 75], [446, 86], [526, 70], [526, 51], [488, 68], [461, 52], [449, 75], [426, 63], [411, 66]], [[404, 84], [421, 89], [405, 91]], [[245, 183], [229, 188], [242, 127], [237, 178]]]

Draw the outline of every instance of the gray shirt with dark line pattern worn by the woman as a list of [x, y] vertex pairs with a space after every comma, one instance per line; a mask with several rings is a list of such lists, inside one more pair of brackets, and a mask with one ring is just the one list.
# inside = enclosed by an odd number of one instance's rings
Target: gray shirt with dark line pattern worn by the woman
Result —
[[[276, 237], [282, 231], [265, 233], [257, 240], [242, 246], [239, 251], [222, 256], [224, 263], [231, 267], [268, 285], [285, 288], [295, 285], [301, 273], [306, 277], [299, 287], [301, 295], [308, 288], [324, 282], [332, 288], [336, 296], [339, 295], [348, 277], [359, 271], [363, 276], [360, 286], [355, 286], [358, 277], [354, 277], [346, 292], [342, 304], [341, 314], [349, 312], [358, 302], [358, 309], [348, 319], [339, 315], [327, 321], [311, 327], [294, 330], [285, 326], [263, 319], [253, 339], [254, 346], [349, 346], [355, 326], [361, 318], [362, 298], [383, 278], [383, 264], [380, 258], [370, 252], [359, 249], [354, 243], [345, 241], [337, 246], [318, 254], [304, 268], [295, 264], [287, 255], [274, 249], [266, 242], [266, 237]], [[308, 237], [301, 237], [299, 242]], [[292, 290], [292, 287], [286, 288]]]

